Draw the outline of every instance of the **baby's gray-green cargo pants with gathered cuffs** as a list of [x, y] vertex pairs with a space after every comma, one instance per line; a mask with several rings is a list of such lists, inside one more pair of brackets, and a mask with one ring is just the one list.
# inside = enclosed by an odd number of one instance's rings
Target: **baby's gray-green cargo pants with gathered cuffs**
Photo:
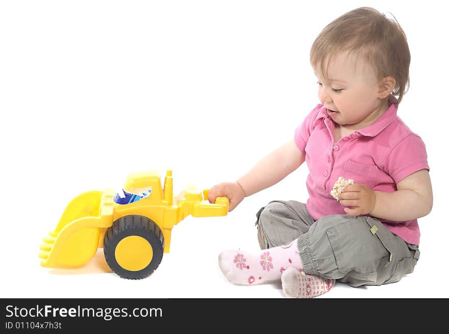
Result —
[[418, 245], [374, 218], [329, 215], [315, 221], [305, 204], [292, 200], [271, 201], [256, 216], [261, 249], [297, 238], [306, 273], [353, 287], [397, 282], [419, 259]]

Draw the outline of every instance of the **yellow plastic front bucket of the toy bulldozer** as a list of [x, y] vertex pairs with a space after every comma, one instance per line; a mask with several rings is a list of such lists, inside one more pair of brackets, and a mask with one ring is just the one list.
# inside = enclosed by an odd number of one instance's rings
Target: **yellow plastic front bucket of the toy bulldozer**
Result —
[[81, 266], [95, 255], [100, 229], [112, 224], [111, 189], [87, 191], [73, 198], [64, 210], [55, 230], [40, 246], [41, 266]]

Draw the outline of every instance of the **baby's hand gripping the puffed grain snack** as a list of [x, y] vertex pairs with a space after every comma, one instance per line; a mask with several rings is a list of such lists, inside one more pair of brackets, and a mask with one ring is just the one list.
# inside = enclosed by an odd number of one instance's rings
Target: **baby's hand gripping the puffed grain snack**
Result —
[[358, 183], [345, 187], [340, 194], [340, 204], [353, 207], [353, 209], [343, 209], [345, 213], [351, 216], [370, 214], [375, 203], [375, 192], [368, 186]]

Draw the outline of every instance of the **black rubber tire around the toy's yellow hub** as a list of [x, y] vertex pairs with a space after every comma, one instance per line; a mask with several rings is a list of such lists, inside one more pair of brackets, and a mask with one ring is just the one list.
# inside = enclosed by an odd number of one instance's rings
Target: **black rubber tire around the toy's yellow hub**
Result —
[[[130, 271], [122, 268], [115, 259], [115, 247], [123, 238], [139, 236], [146, 239], [153, 248], [151, 262], [142, 270]], [[113, 222], [105, 233], [105, 259], [109, 268], [122, 278], [141, 279], [156, 270], [164, 254], [164, 236], [159, 226], [151, 219], [138, 215], [124, 216]]]

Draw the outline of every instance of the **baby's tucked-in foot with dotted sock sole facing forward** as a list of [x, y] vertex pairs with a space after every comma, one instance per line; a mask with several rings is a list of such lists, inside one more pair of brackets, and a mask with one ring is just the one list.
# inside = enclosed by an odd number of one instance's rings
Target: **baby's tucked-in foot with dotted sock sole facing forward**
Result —
[[308, 275], [303, 270], [288, 268], [282, 273], [282, 290], [288, 298], [313, 298], [334, 287], [335, 279]]

